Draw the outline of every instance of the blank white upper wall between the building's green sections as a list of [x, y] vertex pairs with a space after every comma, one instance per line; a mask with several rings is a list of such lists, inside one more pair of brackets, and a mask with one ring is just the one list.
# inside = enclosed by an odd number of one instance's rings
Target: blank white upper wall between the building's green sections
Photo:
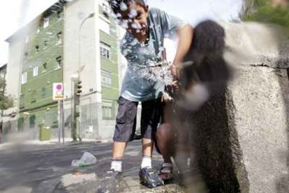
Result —
[[82, 94], [89, 93], [89, 89], [96, 91], [96, 17], [84, 22], [80, 34], [81, 22], [90, 13], [95, 12], [96, 1], [73, 1], [68, 3], [64, 23], [64, 82], [66, 94], [71, 97], [71, 77], [78, 69], [78, 38], [81, 44], [81, 80]]

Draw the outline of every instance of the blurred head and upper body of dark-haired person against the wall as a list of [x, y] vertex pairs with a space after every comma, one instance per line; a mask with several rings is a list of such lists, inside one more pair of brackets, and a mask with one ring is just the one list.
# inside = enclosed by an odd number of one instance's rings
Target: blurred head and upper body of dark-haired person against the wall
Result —
[[193, 43], [184, 59], [180, 77], [181, 107], [196, 110], [210, 95], [223, 93], [232, 77], [232, 70], [223, 59], [225, 31], [212, 20], [198, 24], [194, 29]]

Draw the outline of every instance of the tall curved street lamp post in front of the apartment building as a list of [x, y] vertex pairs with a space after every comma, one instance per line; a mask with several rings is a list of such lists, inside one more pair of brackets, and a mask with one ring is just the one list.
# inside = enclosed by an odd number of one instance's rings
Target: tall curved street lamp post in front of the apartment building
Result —
[[[85, 17], [81, 24], [78, 31], [78, 68], [77, 68], [77, 83], [75, 84], [74, 89], [74, 116], [73, 116], [73, 134], [76, 134], [78, 131], [78, 139], [82, 141], [81, 138], [81, 127], [80, 127], [80, 94], [81, 94], [81, 31], [84, 22], [86, 22], [89, 18], [94, 17], [95, 13], [90, 13], [87, 17]], [[73, 136], [73, 141], [76, 141], [76, 135]]]

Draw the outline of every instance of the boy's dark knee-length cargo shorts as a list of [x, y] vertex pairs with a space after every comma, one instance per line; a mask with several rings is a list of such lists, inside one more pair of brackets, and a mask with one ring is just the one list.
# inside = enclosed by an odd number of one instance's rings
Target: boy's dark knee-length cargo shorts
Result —
[[[138, 102], [126, 100], [119, 97], [119, 109], [114, 130], [113, 141], [133, 141], [136, 127], [136, 116]], [[142, 102], [142, 113], [140, 121], [140, 132], [144, 139], [155, 139], [156, 128], [161, 120], [162, 102], [161, 98]]]

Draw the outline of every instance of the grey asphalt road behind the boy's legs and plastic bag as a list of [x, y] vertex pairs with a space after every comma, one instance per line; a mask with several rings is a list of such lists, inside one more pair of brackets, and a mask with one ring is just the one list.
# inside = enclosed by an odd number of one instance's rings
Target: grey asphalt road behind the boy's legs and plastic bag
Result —
[[[140, 167], [140, 140], [127, 146], [124, 157], [124, 175], [135, 173]], [[98, 162], [94, 167], [87, 167], [86, 172], [93, 170], [97, 176], [103, 176], [110, 168], [111, 143], [101, 144], [85, 142], [84, 144], [15, 144], [0, 149], [0, 192], [10, 187], [25, 186], [34, 189], [47, 181], [66, 173], [71, 173], [72, 160], [79, 159], [84, 152], [92, 153]], [[154, 155], [154, 166], [159, 167], [161, 156]]]

